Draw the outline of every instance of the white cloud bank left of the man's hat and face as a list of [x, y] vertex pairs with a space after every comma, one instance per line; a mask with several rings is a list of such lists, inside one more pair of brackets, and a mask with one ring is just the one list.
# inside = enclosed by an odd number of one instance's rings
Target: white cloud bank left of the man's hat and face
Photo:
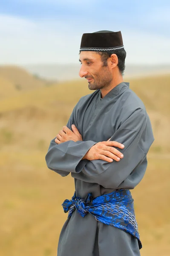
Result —
[[[27, 64], [73, 62], [80, 38], [69, 40], [60, 23], [33, 23], [23, 18], [0, 16], [0, 63]], [[66, 25], [65, 25], [66, 26]]]

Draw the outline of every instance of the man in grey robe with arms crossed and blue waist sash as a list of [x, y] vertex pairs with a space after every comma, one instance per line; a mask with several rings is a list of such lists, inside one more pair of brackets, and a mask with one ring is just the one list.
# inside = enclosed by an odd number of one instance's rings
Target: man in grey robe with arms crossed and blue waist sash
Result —
[[133, 189], [147, 167], [153, 143], [143, 102], [123, 81], [121, 32], [83, 34], [79, 75], [93, 93], [82, 97], [46, 154], [49, 169], [75, 178], [65, 200], [58, 256], [138, 256]]

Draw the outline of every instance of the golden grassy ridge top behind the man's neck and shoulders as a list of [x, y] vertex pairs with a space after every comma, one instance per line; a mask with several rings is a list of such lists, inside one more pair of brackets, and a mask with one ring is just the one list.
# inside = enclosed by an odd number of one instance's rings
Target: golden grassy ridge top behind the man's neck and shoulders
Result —
[[[130, 82], [130, 88], [143, 100], [147, 109], [164, 112], [165, 115], [169, 113], [170, 74], [125, 81]], [[76, 104], [82, 96], [89, 93], [92, 93], [92, 90], [88, 89], [85, 79], [61, 82], [53, 84], [51, 87], [38, 88], [34, 91], [22, 93], [17, 97], [12, 96], [9, 99], [4, 99], [0, 102], [0, 109], [1, 111], [8, 111], [27, 105], [50, 105], [53, 101]]]

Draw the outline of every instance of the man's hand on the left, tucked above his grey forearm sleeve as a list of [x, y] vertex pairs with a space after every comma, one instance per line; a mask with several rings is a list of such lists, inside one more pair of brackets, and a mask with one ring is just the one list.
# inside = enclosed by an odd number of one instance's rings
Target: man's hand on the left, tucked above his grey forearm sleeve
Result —
[[60, 144], [68, 140], [78, 141], [82, 140], [81, 134], [75, 125], [72, 125], [72, 131], [67, 127], [63, 126], [63, 131], [59, 131], [59, 134], [56, 136], [55, 143]]

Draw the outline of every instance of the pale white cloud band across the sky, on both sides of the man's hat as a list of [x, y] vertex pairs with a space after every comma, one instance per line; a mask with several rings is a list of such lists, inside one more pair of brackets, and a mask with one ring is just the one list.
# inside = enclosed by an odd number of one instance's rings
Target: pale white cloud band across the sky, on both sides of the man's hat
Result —
[[[0, 63], [78, 63], [82, 34], [105, 28], [106, 24], [103, 27], [90, 22], [82, 25], [77, 20], [74, 23], [60, 19], [30, 21], [0, 15]], [[112, 30], [111, 25], [107, 29]], [[127, 63], [170, 63], [167, 54], [170, 38], [125, 27], [121, 32], [127, 51]]]

